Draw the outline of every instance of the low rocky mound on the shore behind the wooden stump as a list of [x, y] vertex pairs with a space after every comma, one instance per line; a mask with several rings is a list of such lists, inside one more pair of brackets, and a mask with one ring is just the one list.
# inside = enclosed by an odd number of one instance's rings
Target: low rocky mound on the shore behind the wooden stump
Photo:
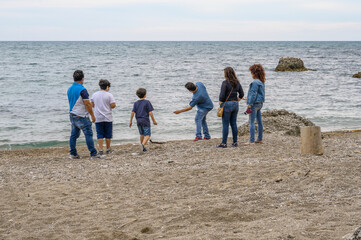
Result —
[[[281, 132], [285, 135], [300, 136], [300, 127], [314, 126], [315, 124], [307, 118], [298, 116], [295, 113], [288, 112], [284, 109], [273, 109], [262, 113], [262, 123], [264, 133]], [[257, 121], [256, 121], [257, 130]], [[238, 128], [238, 135], [244, 136], [249, 134], [248, 122]]]

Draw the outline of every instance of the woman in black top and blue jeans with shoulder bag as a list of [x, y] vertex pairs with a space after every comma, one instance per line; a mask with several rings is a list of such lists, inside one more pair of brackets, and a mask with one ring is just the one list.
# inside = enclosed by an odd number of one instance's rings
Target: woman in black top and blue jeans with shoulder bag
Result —
[[231, 125], [232, 128], [232, 135], [233, 135], [232, 146], [233, 147], [238, 146], [237, 143], [237, 135], [238, 135], [237, 115], [239, 109], [238, 102], [241, 101], [241, 99], [244, 96], [242, 86], [239, 83], [233, 68], [226, 67], [224, 69], [224, 78], [226, 80], [222, 82], [221, 93], [219, 94], [219, 104], [222, 107], [224, 102], [226, 101], [227, 102], [225, 103], [223, 116], [222, 116], [222, 125], [223, 125], [222, 143], [217, 146], [218, 148], [227, 147], [229, 125]]

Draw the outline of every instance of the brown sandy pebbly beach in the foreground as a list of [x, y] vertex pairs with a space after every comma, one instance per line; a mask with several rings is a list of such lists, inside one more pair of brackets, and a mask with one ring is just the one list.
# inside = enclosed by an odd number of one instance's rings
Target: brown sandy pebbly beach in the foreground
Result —
[[[240, 142], [247, 141], [243, 136]], [[0, 152], [0, 239], [341, 239], [361, 225], [361, 133]]]

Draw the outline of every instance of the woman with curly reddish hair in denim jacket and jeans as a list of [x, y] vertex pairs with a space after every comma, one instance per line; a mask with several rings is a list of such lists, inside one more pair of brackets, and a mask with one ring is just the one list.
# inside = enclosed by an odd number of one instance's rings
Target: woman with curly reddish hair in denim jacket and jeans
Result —
[[[249, 130], [250, 137], [249, 142], [244, 145], [253, 145], [255, 143], [262, 143], [263, 137], [263, 124], [261, 109], [265, 101], [265, 81], [266, 73], [261, 64], [254, 64], [249, 68], [252, 74], [253, 82], [249, 85], [247, 104], [248, 108], [252, 109], [252, 113], [249, 114]], [[258, 124], [258, 138], [255, 141], [255, 124], [254, 121], [257, 119]]]

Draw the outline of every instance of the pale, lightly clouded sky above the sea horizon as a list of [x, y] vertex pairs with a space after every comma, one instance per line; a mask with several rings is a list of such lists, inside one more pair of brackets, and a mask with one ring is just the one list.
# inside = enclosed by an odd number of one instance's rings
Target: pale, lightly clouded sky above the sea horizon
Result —
[[0, 41], [361, 41], [361, 0], [0, 0]]

